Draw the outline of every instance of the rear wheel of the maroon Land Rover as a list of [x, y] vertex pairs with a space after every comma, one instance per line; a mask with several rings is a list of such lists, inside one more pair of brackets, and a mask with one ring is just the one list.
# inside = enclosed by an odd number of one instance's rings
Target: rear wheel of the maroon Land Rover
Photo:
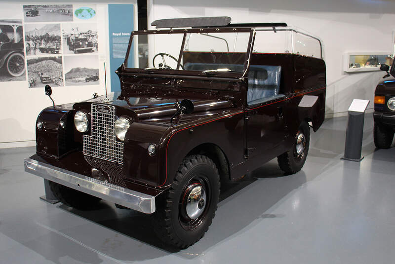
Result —
[[306, 122], [302, 122], [295, 135], [292, 148], [277, 157], [280, 169], [287, 174], [294, 174], [300, 171], [305, 164], [309, 146], [310, 127]]

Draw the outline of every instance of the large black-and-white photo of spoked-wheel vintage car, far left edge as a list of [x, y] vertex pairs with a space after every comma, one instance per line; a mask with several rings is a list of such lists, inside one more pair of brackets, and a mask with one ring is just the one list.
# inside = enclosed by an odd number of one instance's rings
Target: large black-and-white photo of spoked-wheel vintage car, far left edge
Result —
[[0, 81], [26, 80], [21, 19], [0, 19]]

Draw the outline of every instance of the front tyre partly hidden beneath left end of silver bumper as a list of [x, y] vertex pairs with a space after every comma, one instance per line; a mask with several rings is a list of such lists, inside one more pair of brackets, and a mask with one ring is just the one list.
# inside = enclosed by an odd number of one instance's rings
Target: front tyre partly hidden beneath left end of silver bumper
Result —
[[49, 182], [49, 186], [51, 187], [51, 190], [55, 197], [58, 198], [61, 203], [79, 210], [93, 209], [101, 200], [101, 198], [86, 194], [75, 189], [71, 189], [69, 187], [51, 181]]

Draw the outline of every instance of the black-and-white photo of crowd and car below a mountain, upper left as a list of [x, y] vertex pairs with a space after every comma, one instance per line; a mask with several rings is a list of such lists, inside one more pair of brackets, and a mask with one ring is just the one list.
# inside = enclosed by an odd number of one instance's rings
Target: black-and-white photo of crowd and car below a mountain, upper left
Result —
[[27, 56], [62, 53], [61, 42], [60, 24], [25, 24]]

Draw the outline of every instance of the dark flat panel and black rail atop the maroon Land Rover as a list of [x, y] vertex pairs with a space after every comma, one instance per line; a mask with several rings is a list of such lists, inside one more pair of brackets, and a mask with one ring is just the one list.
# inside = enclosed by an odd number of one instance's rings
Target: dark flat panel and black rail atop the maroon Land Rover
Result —
[[229, 16], [215, 16], [215, 17], [190, 17], [190, 18], [173, 18], [173, 19], [159, 19], [151, 23], [151, 26], [156, 26], [157, 29], [162, 28], [276, 28], [286, 27], [286, 23], [239, 23], [231, 24]]

